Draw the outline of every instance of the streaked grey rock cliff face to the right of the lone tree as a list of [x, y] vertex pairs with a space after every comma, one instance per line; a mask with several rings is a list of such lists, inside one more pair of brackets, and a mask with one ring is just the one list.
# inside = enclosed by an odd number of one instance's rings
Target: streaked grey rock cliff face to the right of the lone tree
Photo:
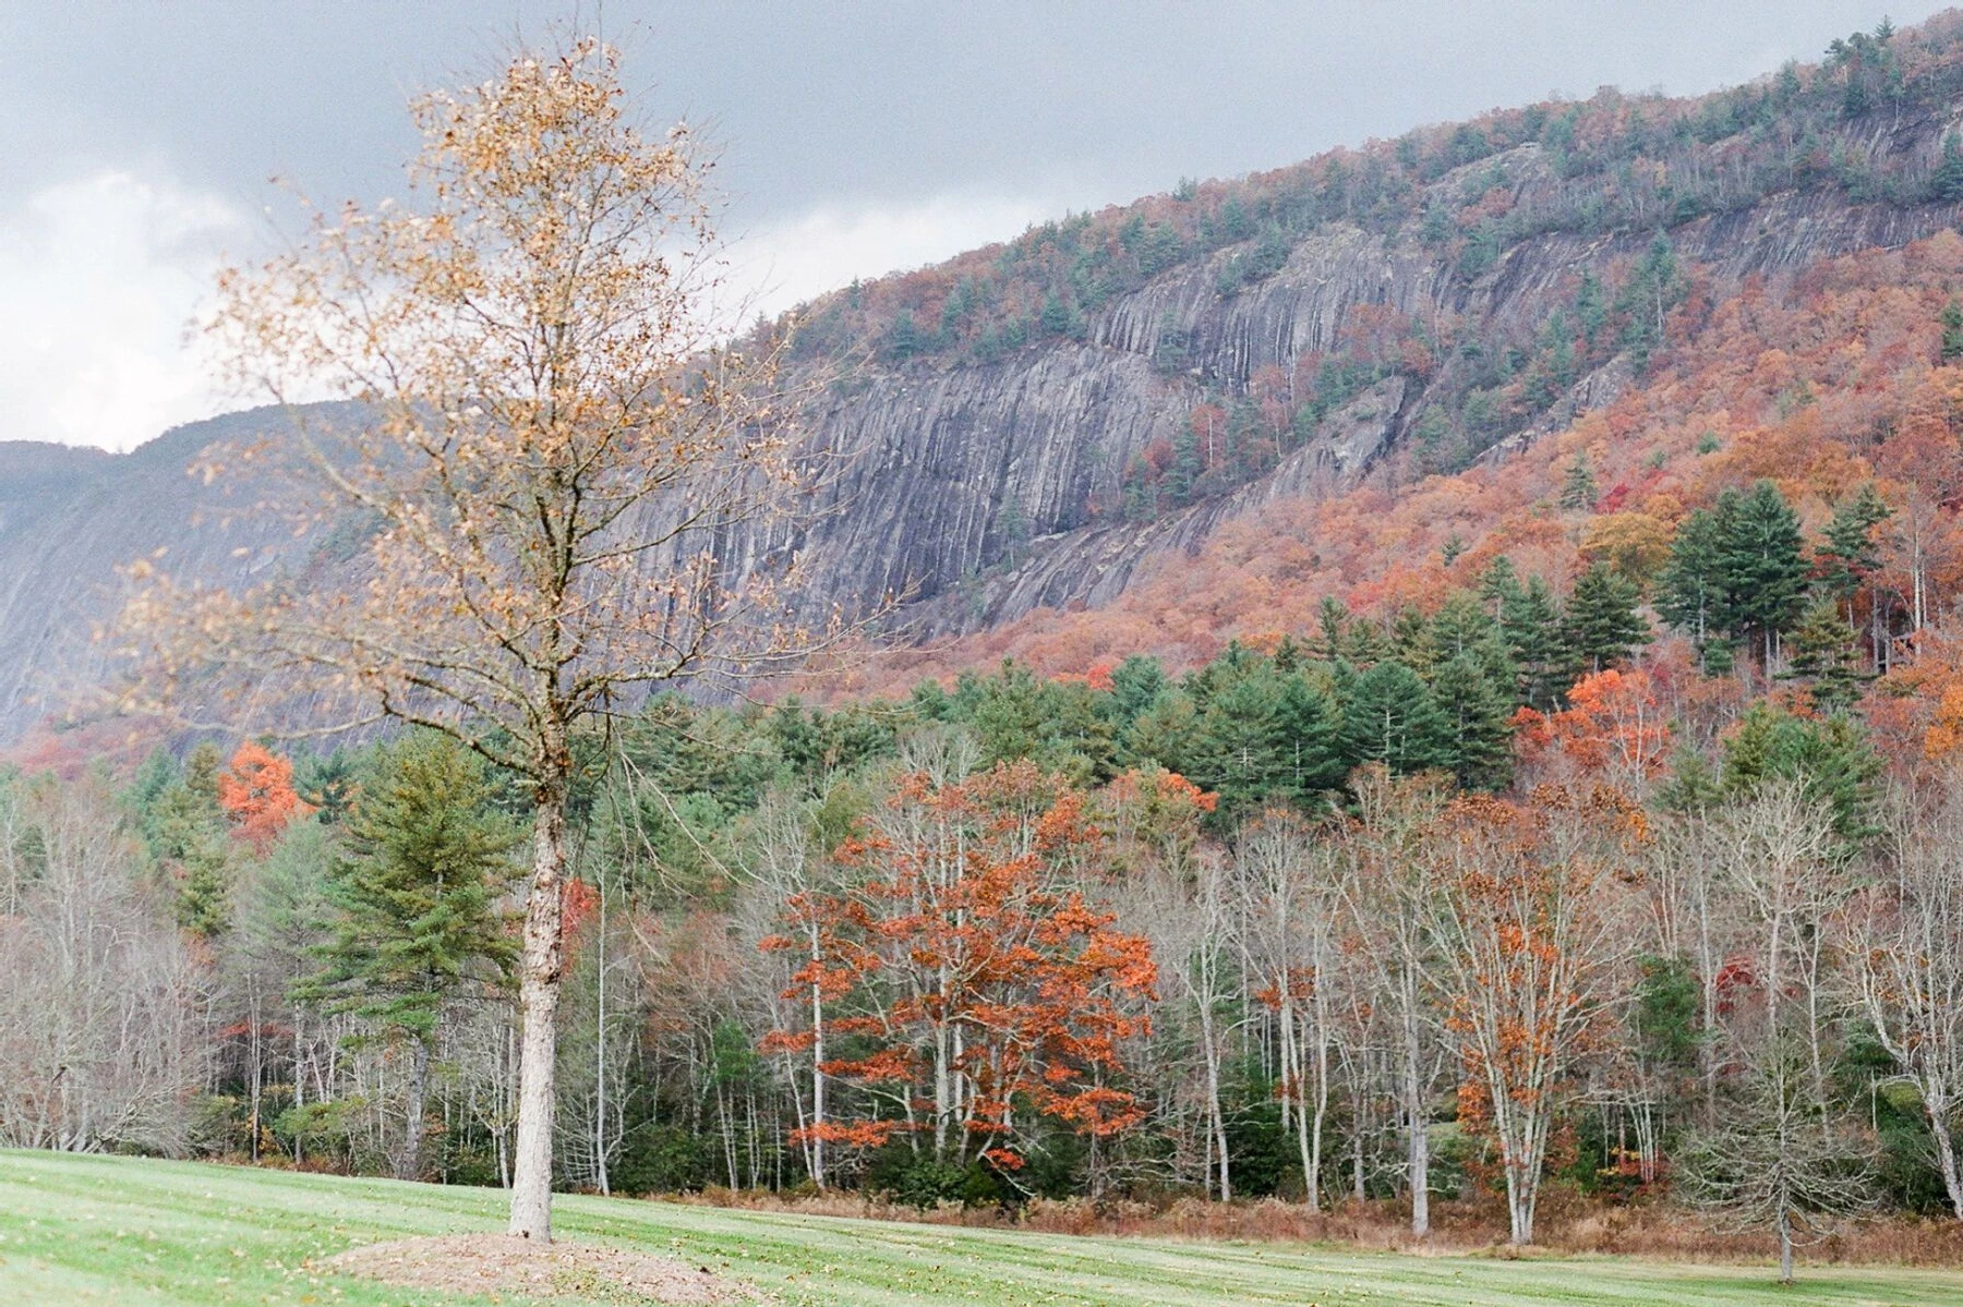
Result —
[[[1533, 147], [1519, 175], [1531, 200]], [[1716, 292], [1818, 259], [1896, 247], [1959, 218], [1955, 204], [1849, 204], [1826, 194], [1708, 216], [1671, 232], [1676, 257]], [[911, 363], [875, 371], [817, 418], [852, 455], [836, 516], [811, 532], [826, 559], [822, 602], [913, 595], [915, 634], [974, 630], [1035, 606], [1099, 604], [1154, 553], [1190, 548], [1223, 520], [1278, 497], [1353, 485], [1392, 449], [1449, 371], [1394, 375], [1327, 416], [1264, 479], [1150, 522], [1111, 510], [1131, 461], [1170, 442], [1207, 394], [1237, 394], [1262, 369], [1333, 353], [1353, 310], [1382, 304], [1417, 320], [1455, 316], [1474, 334], [1523, 338], [1572, 294], [1582, 273], [1608, 279], [1639, 257], [1649, 230], [1551, 234], [1506, 249], [1478, 279], [1457, 277], [1411, 241], [1335, 228], [1296, 245], [1280, 273], [1223, 296], [1223, 251], [1121, 296], [1084, 343], [1029, 349], [993, 365]], [[1178, 371], [1154, 367], [1178, 341]], [[1627, 365], [1576, 381], [1531, 430], [1614, 398]], [[1510, 442], [1517, 447], [1517, 438]], [[1504, 445], [1502, 445], [1504, 449]], [[1099, 506], [1103, 512], [1099, 514]], [[1007, 530], [1009, 524], [1021, 528]], [[840, 559], [842, 567], [830, 563]]]

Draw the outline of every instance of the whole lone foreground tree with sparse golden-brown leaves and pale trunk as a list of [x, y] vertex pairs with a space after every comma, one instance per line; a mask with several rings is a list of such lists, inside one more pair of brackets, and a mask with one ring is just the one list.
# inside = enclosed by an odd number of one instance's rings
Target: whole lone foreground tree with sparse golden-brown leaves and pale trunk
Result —
[[[234, 381], [291, 416], [226, 471], [304, 487], [302, 530], [345, 559], [247, 591], [139, 563], [122, 628], [135, 703], [230, 681], [359, 705], [528, 783], [512, 1230], [534, 1238], [571, 736], [826, 636], [785, 618], [811, 477], [779, 345], [718, 341], [707, 165], [624, 98], [614, 51], [585, 39], [428, 94], [410, 202], [316, 212], [287, 253], [224, 275], [212, 332]], [[318, 398], [351, 402], [300, 406]]]

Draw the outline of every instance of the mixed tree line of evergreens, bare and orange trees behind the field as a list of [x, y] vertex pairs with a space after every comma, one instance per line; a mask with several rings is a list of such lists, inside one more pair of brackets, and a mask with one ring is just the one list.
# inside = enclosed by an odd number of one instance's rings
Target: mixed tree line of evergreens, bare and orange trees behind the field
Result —
[[[1565, 595], [577, 734], [557, 1183], [1963, 1215], [1879, 512], [1759, 483]], [[526, 814], [436, 732], [12, 775], [0, 1136], [508, 1183]]]

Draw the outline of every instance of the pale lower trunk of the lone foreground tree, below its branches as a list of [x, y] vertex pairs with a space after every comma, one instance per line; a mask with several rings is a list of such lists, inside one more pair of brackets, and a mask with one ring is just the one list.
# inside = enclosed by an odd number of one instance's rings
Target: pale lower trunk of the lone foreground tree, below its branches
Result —
[[524, 905], [518, 962], [518, 1144], [512, 1150], [510, 1232], [552, 1240], [552, 1073], [554, 1024], [565, 948], [559, 940], [559, 887], [565, 879], [565, 787], [540, 791], [532, 812], [532, 885]]

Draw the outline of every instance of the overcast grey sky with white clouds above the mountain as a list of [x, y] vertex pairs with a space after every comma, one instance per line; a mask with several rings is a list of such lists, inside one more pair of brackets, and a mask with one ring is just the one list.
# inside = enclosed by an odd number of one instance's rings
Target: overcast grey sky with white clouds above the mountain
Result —
[[581, 12], [720, 147], [783, 308], [1027, 224], [1602, 84], [1694, 94], [1939, 4], [1877, 0], [0, 0], [0, 440], [226, 406], [183, 324], [267, 179], [379, 198], [420, 86]]

